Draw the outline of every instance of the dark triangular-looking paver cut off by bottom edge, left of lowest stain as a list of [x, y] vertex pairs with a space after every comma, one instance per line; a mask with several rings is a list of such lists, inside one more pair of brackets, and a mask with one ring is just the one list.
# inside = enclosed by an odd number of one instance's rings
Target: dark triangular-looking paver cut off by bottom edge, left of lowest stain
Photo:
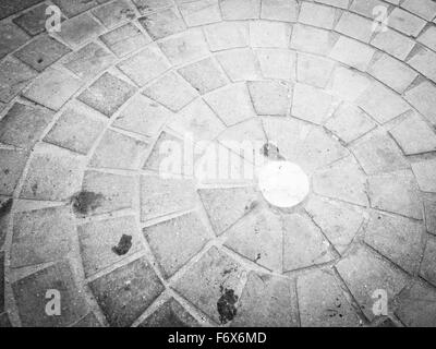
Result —
[[140, 327], [197, 327], [198, 323], [180, 303], [171, 298], [144, 320]]

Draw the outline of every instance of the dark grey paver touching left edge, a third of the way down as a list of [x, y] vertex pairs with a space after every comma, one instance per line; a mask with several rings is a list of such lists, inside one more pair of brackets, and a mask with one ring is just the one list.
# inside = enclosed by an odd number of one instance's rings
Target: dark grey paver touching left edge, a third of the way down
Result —
[[0, 120], [0, 141], [25, 149], [32, 148], [53, 117], [53, 112], [47, 108], [14, 104]]

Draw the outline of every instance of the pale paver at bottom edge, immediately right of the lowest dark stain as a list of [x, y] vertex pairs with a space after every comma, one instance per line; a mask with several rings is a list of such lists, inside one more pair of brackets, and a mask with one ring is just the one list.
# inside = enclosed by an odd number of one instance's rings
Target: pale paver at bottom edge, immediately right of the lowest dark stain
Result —
[[[269, 316], [270, 312], [275, 316]], [[296, 299], [291, 280], [250, 273], [231, 326], [295, 327]]]

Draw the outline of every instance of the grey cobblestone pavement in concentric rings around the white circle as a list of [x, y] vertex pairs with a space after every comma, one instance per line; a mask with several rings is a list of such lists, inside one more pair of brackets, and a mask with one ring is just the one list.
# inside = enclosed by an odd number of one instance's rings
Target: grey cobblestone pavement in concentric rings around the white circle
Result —
[[[0, 17], [1, 326], [436, 326], [434, 0], [1, 0]], [[196, 168], [252, 141], [308, 195], [283, 209], [256, 178], [161, 176], [191, 134]]]

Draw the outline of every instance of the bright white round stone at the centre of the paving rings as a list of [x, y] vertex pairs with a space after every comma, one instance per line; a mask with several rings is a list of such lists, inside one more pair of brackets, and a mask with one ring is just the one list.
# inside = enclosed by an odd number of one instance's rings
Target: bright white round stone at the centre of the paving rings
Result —
[[262, 167], [258, 185], [266, 201], [282, 208], [300, 204], [310, 191], [306, 173], [289, 161], [270, 161]]

